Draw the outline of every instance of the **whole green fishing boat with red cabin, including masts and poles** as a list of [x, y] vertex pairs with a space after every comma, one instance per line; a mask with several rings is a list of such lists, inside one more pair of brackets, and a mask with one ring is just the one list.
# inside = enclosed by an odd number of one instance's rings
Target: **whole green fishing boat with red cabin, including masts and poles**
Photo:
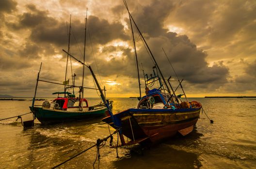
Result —
[[[86, 14], [86, 21], [87, 21], [87, 14]], [[71, 16], [70, 16], [70, 23], [71, 23]], [[70, 28], [71, 28], [71, 24], [69, 27], [68, 51], [66, 52], [63, 50], [67, 54], [66, 65], [68, 65], [68, 58], [70, 58], [71, 60], [71, 57], [73, 57], [75, 60], [77, 60], [74, 56], [70, 54], [70, 51], [69, 51]], [[86, 24], [85, 24], [85, 42], [86, 42]], [[74, 120], [85, 120], [85, 119], [90, 120], [90, 119], [96, 119], [96, 118], [101, 119], [103, 116], [105, 116], [108, 110], [109, 111], [112, 110], [112, 101], [105, 99], [103, 101], [104, 104], [100, 102], [99, 104], [89, 106], [87, 99], [84, 98], [84, 89], [99, 90], [98, 88], [90, 88], [90, 87], [83, 86], [84, 67], [85, 66], [88, 67], [87, 65], [84, 64], [85, 42], [84, 42], [83, 62], [79, 61], [83, 65], [81, 86], [75, 85], [75, 76], [76, 76], [75, 73], [74, 75], [72, 73], [73, 83], [72, 85], [69, 85], [69, 79], [67, 80], [67, 66], [66, 66], [66, 72], [65, 72], [65, 81], [63, 82], [63, 84], [42, 80], [42, 78], [39, 77], [41, 66], [42, 66], [42, 63], [41, 63], [40, 70], [37, 74], [35, 93], [34, 93], [34, 98], [32, 100], [32, 106], [30, 106], [30, 110], [33, 113], [34, 119], [37, 118], [42, 124], [49, 124], [49, 123], [52, 124], [52, 123], [60, 123], [60, 122], [67, 122], [67, 121], [74, 121]], [[91, 73], [93, 74], [93, 76], [95, 76], [91, 67], [89, 66], [88, 68], [90, 68]], [[36, 90], [37, 90], [39, 81], [64, 85], [64, 92], [52, 93], [52, 94], [58, 94], [58, 97], [52, 100], [51, 102], [44, 101], [42, 105], [34, 105]], [[73, 94], [67, 91], [67, 89], [70, 89], [70, 88], [73, 88]], [[75, 96], [74, 88], [79, 88], [79, 97]], [[104, 91], [106, 91], [105, 87], [104, 87]], [[63, 94], [64, 96], [60, 97], [59, 96], [60, 94]]]

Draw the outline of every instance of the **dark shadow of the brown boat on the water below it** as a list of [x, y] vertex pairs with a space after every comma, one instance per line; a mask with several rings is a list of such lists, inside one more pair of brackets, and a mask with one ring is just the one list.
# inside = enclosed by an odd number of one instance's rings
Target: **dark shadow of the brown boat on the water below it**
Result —
[[[194, 130], [189, 135], [176, 136], [157, 144], [151, 148], [142, 150], [141, 146], [134, 146], [124, 158], [114, 163], [117, 169], [194, 169], [202, 167], [199, 155], [196, 152], [186, 151], [189, 144], [198, 144], [198, 139], [203, 134]], [[194, 145], [199, 146], [199, 145]]]

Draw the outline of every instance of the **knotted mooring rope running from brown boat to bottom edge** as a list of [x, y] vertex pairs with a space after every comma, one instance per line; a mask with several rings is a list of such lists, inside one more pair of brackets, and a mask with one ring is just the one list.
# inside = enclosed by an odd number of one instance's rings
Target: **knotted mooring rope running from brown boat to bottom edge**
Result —
[[[112, 140], [113, 140], [113, 136], [112, 136], [112, 135], [116, 134], [118, 130], [119, 130], [119, 129], [116, 129], [112, 134], [110, 134], [108, 137], [106, 137], [106, 138], [104, 138], [104, 139], [98, 139], [97, 142], [96, 142], [96, 144], [94, 144], [94, 145], [92, 145], [91, 147], [89, 147], [89, 148], [83, 150], [83, 151], [80, 152], [79, 154], [72, 156], [71, 158], [65, 160], [64, 162], [62, 162], [62, 163], [60, 163], [60, 164], [54, 166], [54, 167], [51, 168], [51, 169], [56, 169], [57, 167], [60, 167], [60, 166], [63, 165], [64, 163], [66, 163], [66, 162], [72, 160], [73, 158], [77, 157], [78, 155], [83, 154], [84, 152], [90, 150], [91, 148], [93, 148], [93, 147], [95, 147], [95, 146], [97, 147], [96, 159], [98, 158], [98, 161], [99, 161], [99, 157], [100, 157], [100, 155], [99, 155], [99, 149], [105, 146], [105, 143], [106, 143], [106, 141], [107, 141], [109, 138], [111, 138], [111, 140], [110, 140], [110, 145], [112, 145]], [[117, 134], [117, 136], [118, 136], [118, 134]], [[117, 140], [117, 143], [118, 143], [118, 140]], [[118, 155], [117, 155], [117, 156], [118, 156]], [[95, 162], [96, 162], [96, 160], [95, 160]], [[94, 164], [95, 164], [95, 162], [94, 162]], [[93, 165], [94, 165], [94, 164], [93, 164]]]

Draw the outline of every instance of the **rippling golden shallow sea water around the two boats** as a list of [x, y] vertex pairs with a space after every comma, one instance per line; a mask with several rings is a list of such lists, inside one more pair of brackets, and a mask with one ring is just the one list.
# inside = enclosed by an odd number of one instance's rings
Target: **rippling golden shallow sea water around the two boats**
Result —
[[[113, 112], [136, 107], [137, 99], [112, 99]], [[99, 169], [244, 169], [256, 166], [256, 99], [194, 98], [202, 103], [214, 124], [203, 113], [196, 128], [141, 151], [139, 146], [100, 149]], [[88, 99], [90, 105], [99, 99]], [[36, 101], [35, 104], [42, 104]], [[0, 100], [0, 119], [29, 112], [31, 100]], [[111, 128], [111, 132], [114, 130]], [[100, 119], [23, 129], [20, 119], [0, 121], [0, 168], [50, 169], [109, 135]], [[116, 144], [116, 135], [114, 143]], [[131, 151], [130, 151], [131, 150]], [[96, 148], [62, 165], [64, 169], [93, 168]]]

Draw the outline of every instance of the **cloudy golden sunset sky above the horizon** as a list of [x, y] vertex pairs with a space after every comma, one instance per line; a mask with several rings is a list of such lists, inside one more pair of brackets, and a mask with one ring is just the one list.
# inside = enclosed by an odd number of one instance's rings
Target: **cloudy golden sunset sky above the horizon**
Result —
[[[127, 0], [127, 4], [174, 88], [177, 74], [187, 97], [256, 96], [255, 0]], [[41, 62], [40, 79], [62, 83], [70, 15], [70, 53], [83, 60], [87, 8], [86, 65], [106, 87], [107, 97], [139, 96], [129, 15], [122, 0], [0, 0], [0, 94], [33, 97]], [[144, 95], [143, 70], [150, 77], [154, 63], [134, 25], [133, 29]], [[69, 58], [70, 84], [71, 73], [76, 73], [75, 84], [80, 86], [82, 65]], [[84, 86], [95, 87], [90, 71], [85, 68], [84, 73]], [[36, 95], [52, 97], [63, 90], [62, 85], [39, 82]], [[85, 97], [98, 93], [85, 89]]]

